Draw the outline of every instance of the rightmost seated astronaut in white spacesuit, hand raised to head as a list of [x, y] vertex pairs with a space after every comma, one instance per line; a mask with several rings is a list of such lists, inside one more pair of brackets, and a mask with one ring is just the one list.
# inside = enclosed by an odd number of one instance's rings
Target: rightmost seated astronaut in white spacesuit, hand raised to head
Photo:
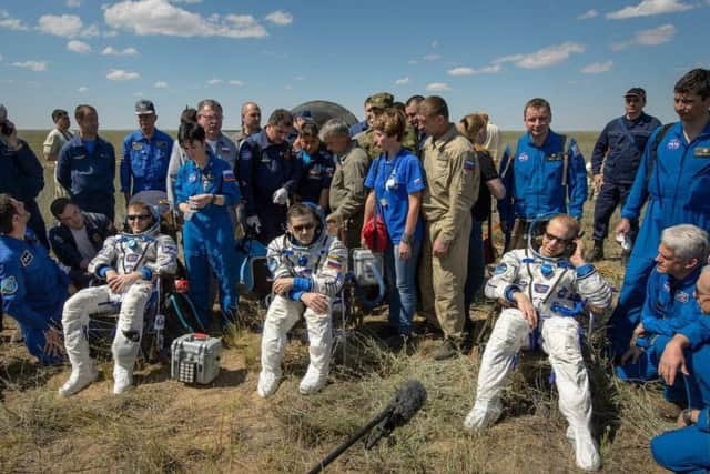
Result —
[[483, 431], [498, 420], [500, 391], [516, 353], [530, 341], [539, 341], [555, 371], [559, 409], [569, 423], [567, 437], [575, 446], [577, 465], [596, 471], [601, 460], [590, 430], [591, 396], [578, 316], [585, 306], [594, 313], [609, 306], [611, 288], [584, 261], [578, 235], [579, 223], [558, 214], [549, 221], [538, 249], [513, 250], [500, 260], [486, 284], [486, 296], [508, 307], [486, 345], [476, 403], [464, 426]]

